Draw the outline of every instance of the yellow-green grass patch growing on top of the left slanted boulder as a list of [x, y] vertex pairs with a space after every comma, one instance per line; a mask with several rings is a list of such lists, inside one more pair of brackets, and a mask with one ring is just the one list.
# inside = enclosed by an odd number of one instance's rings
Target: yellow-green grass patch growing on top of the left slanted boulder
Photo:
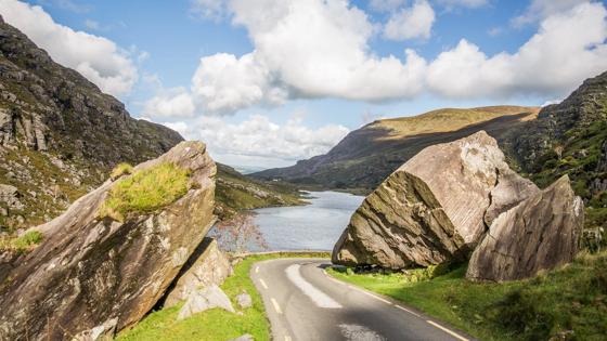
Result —
[[181, 198], [190, 189], [190, 170], [165, 162], [117, 181], [98, 217], [124, 221], [130, 212], [153, 212]]

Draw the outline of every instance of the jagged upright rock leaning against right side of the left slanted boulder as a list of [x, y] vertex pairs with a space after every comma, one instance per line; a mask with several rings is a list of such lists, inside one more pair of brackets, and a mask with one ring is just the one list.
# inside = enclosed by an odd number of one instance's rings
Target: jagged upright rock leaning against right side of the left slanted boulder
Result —
[[173, 306], [190, 294], [210, 285], [221, 285], [232, 274], [230, 261], [212, 238], [205, 238], [181, 270], [164, 306]]

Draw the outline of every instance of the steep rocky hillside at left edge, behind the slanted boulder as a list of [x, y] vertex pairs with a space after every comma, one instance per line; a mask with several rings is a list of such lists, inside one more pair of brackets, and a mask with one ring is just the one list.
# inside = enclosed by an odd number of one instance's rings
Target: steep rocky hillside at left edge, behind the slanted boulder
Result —
[[0, 18], [0, 226], [48, 221], [117, 162], [157, 157], [182, 140], [131, 118]]

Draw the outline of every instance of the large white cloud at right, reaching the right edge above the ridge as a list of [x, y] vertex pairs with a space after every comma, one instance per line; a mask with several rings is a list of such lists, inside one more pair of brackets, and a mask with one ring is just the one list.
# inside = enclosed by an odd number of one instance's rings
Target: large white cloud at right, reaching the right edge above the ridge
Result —
[[554, 14], [514, 54], [489, 57], [462, 40], [429, 65], [429, 89], [450, 97], [561, 95], [607, 69], [606, 17], [600, 3]]

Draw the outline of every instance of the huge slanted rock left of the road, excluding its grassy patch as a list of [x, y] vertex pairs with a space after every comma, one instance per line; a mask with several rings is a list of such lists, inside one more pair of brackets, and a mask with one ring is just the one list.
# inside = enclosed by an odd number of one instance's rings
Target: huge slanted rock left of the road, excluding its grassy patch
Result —
[[38, 227], [42, 244], [0, 274], [1, 340], [65, 340], [114, 319], [120, 330], [156, 304], [215, 221], [205, 145], [183, 142], [135, 171], [160, 162], [191, 170], [192, 186], [175, 202], [122, 223], [99, 220], [107, 181]]

